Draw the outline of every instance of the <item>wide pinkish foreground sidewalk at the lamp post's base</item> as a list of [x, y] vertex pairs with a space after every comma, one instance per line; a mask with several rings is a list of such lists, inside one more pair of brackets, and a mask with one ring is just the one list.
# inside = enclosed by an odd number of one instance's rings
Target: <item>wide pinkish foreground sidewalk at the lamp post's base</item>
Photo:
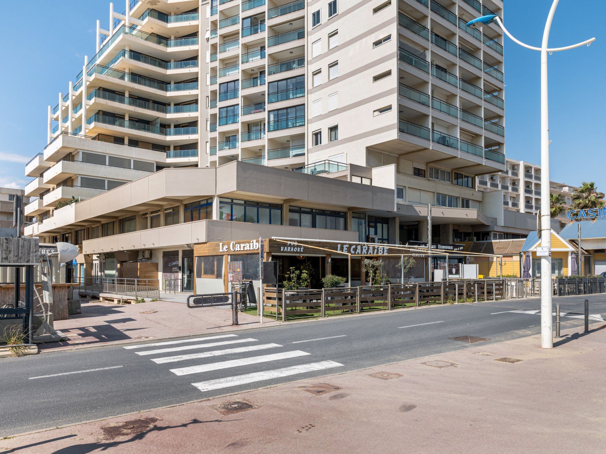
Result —
[[[0, 452], [604, 453], [606, 324], [591, 327], [551, 350], [539, 336], [478, 344], [3, 439]], [[301, 389], [318, 383], [330, 391]]]

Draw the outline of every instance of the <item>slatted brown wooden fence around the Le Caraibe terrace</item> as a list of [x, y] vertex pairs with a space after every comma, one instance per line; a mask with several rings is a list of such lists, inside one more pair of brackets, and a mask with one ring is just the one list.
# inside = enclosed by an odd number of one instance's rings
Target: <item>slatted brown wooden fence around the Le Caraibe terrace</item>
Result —
[[290, 291], [265, 288], [263, 311], [276, 320], [331, 317], [428, 304], [504, 299], [503, 280], [458, 280]]

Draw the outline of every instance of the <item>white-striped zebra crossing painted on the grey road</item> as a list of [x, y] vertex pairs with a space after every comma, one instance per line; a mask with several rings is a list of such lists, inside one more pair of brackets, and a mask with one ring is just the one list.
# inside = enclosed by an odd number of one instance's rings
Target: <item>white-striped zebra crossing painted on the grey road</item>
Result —
[[[133, 353], [139, 356], [151, 356], [150, 361], [156, 364], [168, 364], [171, 373], [178, 376], [188, 376], [195, 380], [204, 379], [204, 373], [223, 370], [227, 372], [226, 377], [212, 378], [210, 380], [201, 380], [191, 383], [201, 392], [210, 390], [230, 388], [241, 386], [248, 383], [257, 383], [276, 378], [290, 377], [305, 372], [315, 372], [317, 370], [333, 369], [341, 367], [343, 364], [336, 361], [325, 360], [316, 362], [304, 362], [295, 366], [278, 367], [276, 369], [259, 370], [257, 372], [242, 373], [241, 375], [231, 375], [239, 367], [251, 366], [254, 364], [271, 363], [272, 361], [291, 360], [301, 358], [305, 360], [310, 357], [310, 352], [303, 350], [285, 350], [280, 352], [262, 352], [261, 350], [279, 349], [284, 347], [276, 343], [258, 343], [259, 341], [250, 337], [239, 337], [237, 334], [222, 334], [209, 337], [199, 337], [191, 339], [180, 339], [174, 341], [163, 341], [148, 344], [127, 345], [124, 349], [133, 350]], [[247, 345], [241, 345], [247, 344]], [[211, 349], [213, 347], [222, 347]], [[187, 352], [188, 350], [198, 350], [196, 352]], [[176, 353], [176, 355], [164, 354]], [[181, 353], [187, 352], [187, 353]], [[229, 359], [229, 355], [249, 354], [244, 358]], [[191, 364], [191, 360], [203, 360], [204, 358], [217, 358], [211, 362], [197, 361], [197, 364]], [[181, 363], [181, 364], [179, 364]], [[202, 375], [195, 375], [202, 374]]]

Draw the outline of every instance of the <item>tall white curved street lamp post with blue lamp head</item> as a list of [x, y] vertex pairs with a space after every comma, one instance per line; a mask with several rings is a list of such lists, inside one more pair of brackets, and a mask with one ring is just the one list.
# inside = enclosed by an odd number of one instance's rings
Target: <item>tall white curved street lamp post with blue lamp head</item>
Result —
[[[483, 27], [484, 25], [496, 22], [505, 32], [505, 35], [513, 39], [519, 45], [541, 52], [541, 246], [547, 248], [550, 255], [541, 257], [541, 347], [553, 348], [553, 328], [551, 326], [553, 318], [553, 304], [551, 302], [551, 210], [549, 199], [549, 121], [548, 121], [548, 99], [547, 99], [547, 53], [568, 50], [582, 45], [590, 45], [595, 38], [579, 42], [566, 47], [550, 49], [547, 47], [549, 41], [549, 32], [551, 30], [551, 21], [558, 7], [559, 0], [553, 0], [547, 23], [543, 31], [543, 41], [541, 47], [533, 47], [514, 38], [507, 31], [503, 22], [497, 15], [482, 16], [473, 19], [467, 23], [468, 27]], [[544, 249], [545, 250], [545, 249]]]

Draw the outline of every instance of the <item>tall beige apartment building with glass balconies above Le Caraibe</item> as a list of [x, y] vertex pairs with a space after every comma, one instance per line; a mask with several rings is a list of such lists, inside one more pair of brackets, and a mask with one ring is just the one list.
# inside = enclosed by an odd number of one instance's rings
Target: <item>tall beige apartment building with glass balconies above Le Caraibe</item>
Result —
[[218, 289], [225, 242], [427, 241], [428, 205], [434, 243], [535, 228], [476, 182], [505, 170], [503, 37], [465, 23], [501, 0], [148, 3], [111, 6], [26, 166], [26, 232], [81, 245], [77, 275]]

